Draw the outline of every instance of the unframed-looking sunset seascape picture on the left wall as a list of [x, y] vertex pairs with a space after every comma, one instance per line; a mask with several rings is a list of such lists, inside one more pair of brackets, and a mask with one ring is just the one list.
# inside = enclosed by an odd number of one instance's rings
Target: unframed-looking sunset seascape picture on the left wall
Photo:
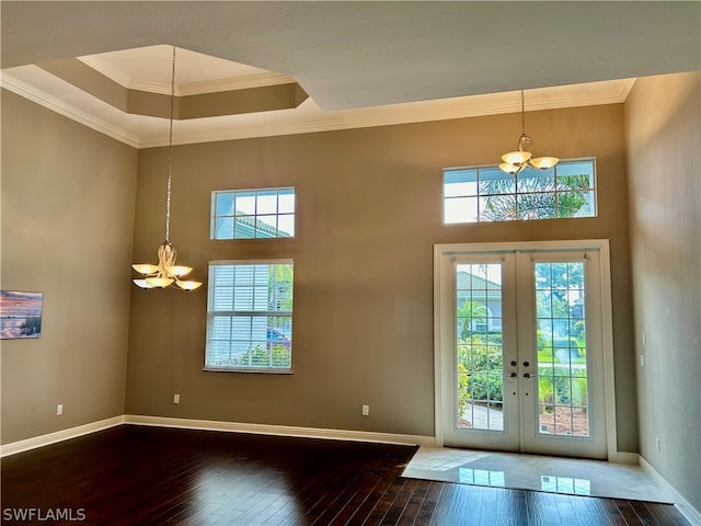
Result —
[[44, 293], [0, 290], [0, 340], [39, 338]]

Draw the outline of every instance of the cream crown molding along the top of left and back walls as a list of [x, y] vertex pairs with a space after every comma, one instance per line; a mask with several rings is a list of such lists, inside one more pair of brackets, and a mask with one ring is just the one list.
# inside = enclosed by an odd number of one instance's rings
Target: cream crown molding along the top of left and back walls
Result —
[[[258, 77], [258, 76], [252, 76]], [[575, 106], [623, 103], [635, 79], [591, 82], [567, 87], [526, 91], [526, 110], [542, 111]], [[129, 129], [74, 107], [12, 75], [2, 72], [0, 85], [56, 113], [125, 142], [134, 148], [154, 148], [168, 145], [163, 135], [140, 128], [141, 121]], [[311, 99], [291, 110], [260, 114], [227, 115], [180, 122], [173, 137], [174, 145], [298, 135], [319, 132], [391, 126], [409, 123], [448, 121], [520, 111], [520, 92], [420, 101], [356, 110], [323, 111]], [[143, 117], [146, 118], [146, 117]]]

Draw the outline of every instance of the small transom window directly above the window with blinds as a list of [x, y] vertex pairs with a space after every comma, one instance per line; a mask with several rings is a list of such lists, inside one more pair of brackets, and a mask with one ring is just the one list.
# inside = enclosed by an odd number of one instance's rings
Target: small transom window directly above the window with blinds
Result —
[[211, 239], [291, 238], [295, 188], [211, 193]]

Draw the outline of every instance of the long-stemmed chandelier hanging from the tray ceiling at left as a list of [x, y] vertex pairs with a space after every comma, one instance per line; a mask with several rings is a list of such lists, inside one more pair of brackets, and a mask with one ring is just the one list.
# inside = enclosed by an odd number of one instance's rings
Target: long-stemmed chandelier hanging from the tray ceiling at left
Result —
[[143, 277], [133, 279], [134, 284], [141, 288], [180, 287], [183, 290], [194, 290], [202, 282], [183, 281], [181, 277], [188, 274], [192, 266], [175, 264], [177, 252], [170, 241], [171, 222], [171, 179], [173, 168], [173, 106], [175, 101], [175, 46], [173, 46], [173, 66], [171, 75], [171, 117], [168, 137], [168, 190], [165, 194], [165, 241], [158, 248], [158, 265], [150, 263], [137, 263], [131, 265]]

